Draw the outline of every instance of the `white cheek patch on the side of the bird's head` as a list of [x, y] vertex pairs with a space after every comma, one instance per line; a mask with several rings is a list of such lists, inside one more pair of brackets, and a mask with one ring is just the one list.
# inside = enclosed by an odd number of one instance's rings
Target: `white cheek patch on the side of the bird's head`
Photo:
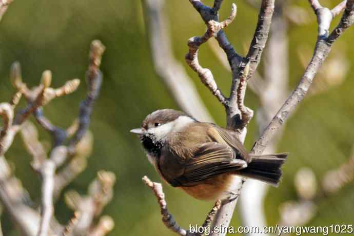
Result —
[[148, 133], [153, 133], [157, 139], [164, 139], [170, 132], [178, 132], [193, 122], [195, 121], [191, 117], [181, 115], [175, 121], [148, 129]]

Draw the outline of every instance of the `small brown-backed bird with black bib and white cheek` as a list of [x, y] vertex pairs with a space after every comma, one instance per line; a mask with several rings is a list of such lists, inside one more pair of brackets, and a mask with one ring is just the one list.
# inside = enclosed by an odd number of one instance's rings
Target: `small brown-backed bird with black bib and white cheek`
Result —
[[236, 175], [278, 186], [288, 155], [249, 154], [234, 131], [172, 109], [152, 112], [130, 132], [164, 181], [200, 200], [227, 199]]

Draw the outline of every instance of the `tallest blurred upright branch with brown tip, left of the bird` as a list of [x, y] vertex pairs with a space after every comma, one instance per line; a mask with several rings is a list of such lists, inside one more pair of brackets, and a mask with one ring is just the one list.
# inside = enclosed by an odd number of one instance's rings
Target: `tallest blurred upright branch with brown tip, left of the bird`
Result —
[[[75, 152], [75, 147], [78, 142], [82, 140], [82, 137], [85, 135], [88, 126], [90, 124], [90, 115], [92, 112], [92, 105], [97, 96], [99, 95], [99, 91], [102, 83], [102, 73], [99, 69], [101, 65], [102, 54], [105, 50], [105, 47], [102, 45], [100, 41], [93, 41], [91, 44], [90, 50], [90, 65], [87, 71], [87, 83], [89, 86], [89, 91], [87, 95], [87, 99], [81, 103], [80, 106], [80, 115], [79, 115], [79, 127], [70, 141], [70, 144], [67, 147], [65, 146], [54, 146], [51, 151], [50, 158], [46, 160], [41, 168], [40, 173], [43, 179], [42, 183], [42, 219], [40, 224], [40, 231], [38, 232], [38, 236], [46, 236], [48, 235], [50, 219], [52, 218], [54, 207], [53, 207], [53, 194], [54, 194], [54, 175], [56, 168], [61, 166], [67, 156], [69, 154], [73, 154]], [[48, 75], [47, 75], [48, 76]], [[51, 78], [51, 76], [50, 76]], [[48, 87], [50, 85], [49, 78], [43, 78], [44, 87]], [[74, 80], [72, 82], [67, 82], [61, 89], [55, 90], [55, 96], [66, 95], [76, 90], [80, 81]], [[38, 120], [38, 119], [37, 119]], [[43, 117], [42, 120], [44, 121]], [[43, 124], [43, 123], [42, 123]], [[46, 127], [53, 128], [48, 123]], [[54, 140], [56, 139], [55, 128], [52, 130], [52, 135], [54, 136]], [[64, 142], [62, 140], [61, 142]], [[58, 143], [60, 144], [60, 143]]]

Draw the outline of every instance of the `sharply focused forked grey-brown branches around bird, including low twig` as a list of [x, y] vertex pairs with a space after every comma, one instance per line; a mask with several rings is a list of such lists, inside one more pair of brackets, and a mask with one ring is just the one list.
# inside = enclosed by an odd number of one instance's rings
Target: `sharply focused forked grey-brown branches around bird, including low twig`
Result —
[[[215, 97], [217, 97], [219, 102], [223, 104], [227, 113], [227, 128], [239, 132], [240, 141], [243, 142], [247, 133], [246, 126], [253, 116], [253, 111], [244, 105], [245, 91], [248, 80], [253, 77], [255, 70], [260, 63], [263, 49], [268, 40], [271, 19], [274, 12], [274, 0], [262, 0], [257, 28], [255, 29], [253, 40], [245, 57], [240, 56], [234, 50], [223, 31], [223, 28], [229, 25], [235, 18], [235, 5], [232, 7], [230, 17], [226, 21], [220, 23], [218, 11], [222, 5], [222, 0], [214, 0], [212, 8], [205, 6], [200, 0], [189, 0], [189, 2], [195, 10], [200, 13], [203, 21], [207, 25], [207, 31], [201, 37], [192, 37], [188, 40], [189, 50], [185, 56], [185, 60], [190, 68], [198, 74], [201, 82]], [[273, 117], [262, 135], [257, 141], [255, 141], [251, 153], [261, 154], [263, 152], [269, 140], [272, 139], [280, 127], [285, 123], [289, 114], [299, 102], [303, 100], [312, 83], [313, 77], [316, 75], [323, 61], [327, 57], [332, 43], [335, 42], [343, 31], [349, 28], [354, 22], [353, 0], [343, 1], [332, 10], [322, 7], [318, 0], [309, 0], [309, 2], [318, 18], [318, 39], [312, 60], [298, 87], [289, 95], [287, 101]], [[335, 30], [329, 33], [329, 27], [333, 17], [343, 10], [344, 14], [339, 25]], [[219, 46], [226, 53], [228, 63], [231, 67], [232, 85], [229, 98], [225, 97], [222, 91], [218, 88], [212, 72], [207, 68], [203, 68], [198, 61], [198, 50], [200, 46], [207, 42], [211, 37], [216, 38]], [[161, 184], [153, 183], [147, 177], [144, 177], [143, 181], [154, 191], [156, 198], [158, 198], [162, 214], [163, 216], [165, 215], [164, 219], [171, 219], [167, 210]], [[240, 178], [237, 186], [235, 186], [235, 192], [238, 194], [242, 189], [244, 181], [244, 179]], [[214, 220], [211, 220], [212, 226], [227, 227], [232, 218], [236, 204], [237, 199], [229, 203], [221, 204], [220, 208], [217, 207], [218, 210], [217, 213], [215, 213], [216, 216]], [[173, 226], [174, 232], [179, 233], [180, 235], [188, 235], [188, 231], [181, 229], [174, 220], [172, 223], [169, 222], [167, 227], [171, 228]], [[225, 233], [218, 234], [218, 236], [220, 235], [225, 235]]]

